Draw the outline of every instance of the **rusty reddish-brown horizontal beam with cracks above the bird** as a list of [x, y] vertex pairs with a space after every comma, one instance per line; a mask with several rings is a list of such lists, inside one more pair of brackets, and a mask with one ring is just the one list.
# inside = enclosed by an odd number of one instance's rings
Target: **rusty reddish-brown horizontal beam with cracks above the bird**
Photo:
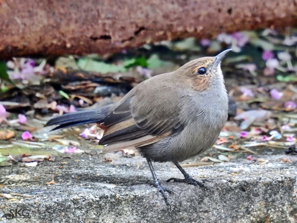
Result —
[[0, 59], [108, 54], [144, 43], [297, 25], [296, 0], [1, 0]]

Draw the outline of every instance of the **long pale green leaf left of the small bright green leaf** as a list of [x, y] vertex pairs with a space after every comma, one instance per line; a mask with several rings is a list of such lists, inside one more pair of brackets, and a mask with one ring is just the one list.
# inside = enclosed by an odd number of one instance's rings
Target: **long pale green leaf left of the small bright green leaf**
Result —
[[123, 64], [121, 65], [113, 65], [107, 64], [105, 62], [94, 61], [89, 58], [82, 58], [79, 59], [77, 65], [86, 71], [95, 71], [98, 73], [117, 73], [117, 72], [124, 72], [127, 69], [124, 67]]

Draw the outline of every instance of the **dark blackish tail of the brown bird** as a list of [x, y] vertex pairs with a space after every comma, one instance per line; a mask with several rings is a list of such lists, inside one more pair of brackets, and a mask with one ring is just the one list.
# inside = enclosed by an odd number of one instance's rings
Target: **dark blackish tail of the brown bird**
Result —
[[114, 105], [107, 105], [96, 110], [84, 110], [78, 112], [72, 112], [63, 114], [61, 116], [52, 118], [45, 124], [45, 126], [50, 125], [58, 125], [57, 127], [53, 128], [53, 130], [57, 130], [60, 128], [68, 128], [76, 125], [83, 125], [89, 123], [102, 123], [104, 122], [105, 118], [110, 114]]

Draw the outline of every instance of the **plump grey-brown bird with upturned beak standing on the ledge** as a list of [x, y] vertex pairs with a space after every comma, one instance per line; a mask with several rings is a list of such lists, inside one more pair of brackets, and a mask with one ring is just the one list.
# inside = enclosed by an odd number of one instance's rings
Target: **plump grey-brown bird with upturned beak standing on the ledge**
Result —
[[[99, 145], [105, 151], [135, 147], [146, 158], [154, 185], [171, 209], [151, 161], [173, 162], [184, 179], [195, 186], [178, 162], [203, 153], [217, 140], [228, 117], [228, 96], [220, 62], [230, 49], [216, 57], [194, 59], [171, 73], [143, 81], [119, 102], [96, 110], [84, 110], [51, 119], [54, 129], [100, 123], [105, 129]], [[53, 129], [53, 130], [54, 130]]]

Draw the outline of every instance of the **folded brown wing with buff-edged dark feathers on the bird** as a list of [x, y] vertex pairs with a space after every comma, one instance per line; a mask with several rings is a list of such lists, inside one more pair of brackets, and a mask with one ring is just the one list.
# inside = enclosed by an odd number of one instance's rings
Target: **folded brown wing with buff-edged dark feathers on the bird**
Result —
[[107, 128], [99, 144], [108, 144], [105, 150], [113, 151], [148, 145], [181, 132], [182, 100], [175, 93], [165, 87], [162, 92], [138, 92], [124, 100], [105, 119]]

